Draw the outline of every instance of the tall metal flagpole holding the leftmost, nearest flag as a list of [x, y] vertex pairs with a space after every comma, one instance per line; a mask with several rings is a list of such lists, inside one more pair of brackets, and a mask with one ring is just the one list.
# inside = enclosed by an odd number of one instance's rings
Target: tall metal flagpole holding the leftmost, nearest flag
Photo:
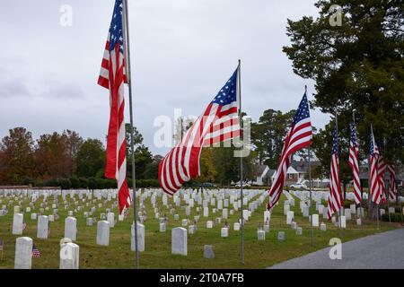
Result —
[[139, 248], [137, 242], [137, 216], [136, 216], [136, 173], [135, 173], [135, 140], [134, 140], [134, 127], [133, 127], [133, 101], [132, 101], [132, 78], [130, 71], [130, 41], [129, 41], [129, 18], [127, 13], [127, 0], [123, 0], [123, 20], [122, 25], [124, 32], [124, 45], [126, 52], [125, 69], [127, 72], [127, 85], [129, 89], [129, 113], [130, 113], [130, 149], [132, 151], [132, 189], [133, 189], [133, 213], [134, 213], [134, 229], [135, 229], [135, 257], [136, 269], [139, 269]]

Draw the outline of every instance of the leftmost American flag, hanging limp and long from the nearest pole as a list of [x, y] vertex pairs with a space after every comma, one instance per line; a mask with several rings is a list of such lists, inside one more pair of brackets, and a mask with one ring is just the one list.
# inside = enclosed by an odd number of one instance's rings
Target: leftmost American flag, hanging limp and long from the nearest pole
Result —
[[122, 13], [122, 0], [116, 0], [98, 80], [102, 87], [110, 90], [110, 125], [105, 178], [116, 178], [118, 181], [120, 213], [131, 204], [126, 176], [127, 143], [124, 121], [124, 83], [127, 83], [127, 77], [125, 74]]

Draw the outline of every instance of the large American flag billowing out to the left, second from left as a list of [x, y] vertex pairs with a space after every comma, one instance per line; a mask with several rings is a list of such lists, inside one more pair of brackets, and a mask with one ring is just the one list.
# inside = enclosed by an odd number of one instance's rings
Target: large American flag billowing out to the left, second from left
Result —
[[182, 141], [160, 162], [160, 186], [167, 194], [173, 195], [182, 184], [200, 175], [199, 157], [203, 146], [240, 136], [238, 71], [239, 68], [189, 128]]

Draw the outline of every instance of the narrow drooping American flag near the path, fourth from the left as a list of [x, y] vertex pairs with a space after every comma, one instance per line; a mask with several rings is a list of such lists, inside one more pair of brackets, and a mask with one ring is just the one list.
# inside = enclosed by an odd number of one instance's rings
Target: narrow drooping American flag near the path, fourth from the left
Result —
[[328, 219], [331, 219], [333, 213], [337, 213], [344, 202], [342, 198], [341, 182], [339, 180], [339, 161], [338, 161], [338, 126], [334, 126], [332, 132], [332, 154], [331, 171], [329, 174], [329, 206]]

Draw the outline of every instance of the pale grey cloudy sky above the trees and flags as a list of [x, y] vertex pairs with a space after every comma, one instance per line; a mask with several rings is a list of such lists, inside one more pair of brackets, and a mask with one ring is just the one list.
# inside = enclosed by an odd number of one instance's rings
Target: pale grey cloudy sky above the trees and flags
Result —
[[[104, 139], [109, 93], [98, 86], [113, 0], [0, 2], [0, 136], [72, 129]], [[61, 6], [73, 25], [60, 24]], [[317, 15], [314, 0], [129, 0], [135, 124], [154, 153], [154, 118], [199, 115], [242, 59], [243, 109], [296, 109], [303, 86], [282, 53], [287, 18]], [[128, 117], [127, 117], [128, 119]], [[329, 120], [312, 111], [312, 123]]]

